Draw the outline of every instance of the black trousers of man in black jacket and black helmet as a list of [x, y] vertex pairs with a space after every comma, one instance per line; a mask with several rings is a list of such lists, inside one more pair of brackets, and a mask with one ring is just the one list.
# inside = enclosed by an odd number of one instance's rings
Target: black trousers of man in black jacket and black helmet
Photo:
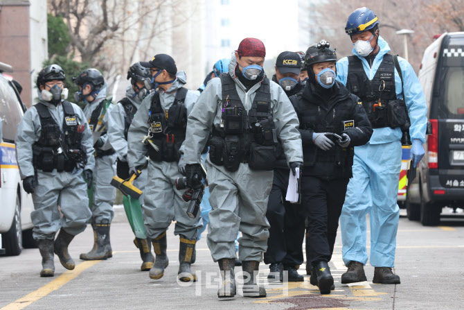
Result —
[[332, 259], [348, 181], [325, 181], [309, 175], [301, 178], [301, 204], [307, 216], [306, 242], [310, 250], [306, 260], [313, 266]]

